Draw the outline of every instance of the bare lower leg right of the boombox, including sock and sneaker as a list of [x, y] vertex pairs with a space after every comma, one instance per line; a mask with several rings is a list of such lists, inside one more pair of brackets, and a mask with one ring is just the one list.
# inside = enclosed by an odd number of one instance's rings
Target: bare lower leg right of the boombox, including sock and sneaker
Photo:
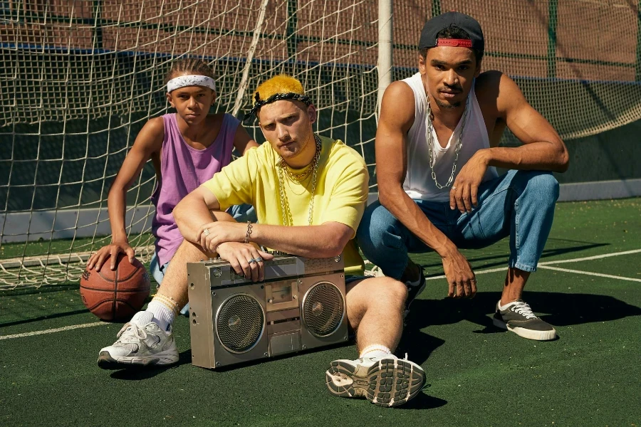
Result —
[[406, 297], [405, 284], [392, 278], [370, 278], [348, 285], [348, 321], [357, 333], [359, 359], [330, 364], [325, 381], [331, 394], [362, 396], [379, 406], [398, 406], [421, 391], [423, 369], [391, 353], [401, 337]]

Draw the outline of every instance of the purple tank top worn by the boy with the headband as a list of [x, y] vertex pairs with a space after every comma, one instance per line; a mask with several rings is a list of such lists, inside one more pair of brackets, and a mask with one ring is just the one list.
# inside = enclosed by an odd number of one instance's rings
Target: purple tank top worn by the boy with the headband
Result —
[[165, 122], [165, 139], [162, 140], [160, 154], [161, 178], [151, 199], [156, 206], [152, 221], [156, 255], [158, 263], [165, 265], [183, 240], [174, 221], [174, 207], [184, 196], [231, 162], [236, 128], [240, 122], [234, 116], [225, 114], [214, 142], [206, 149], [195, 149], [184, 141], [175, 113], [163, 115], [162, 120]]

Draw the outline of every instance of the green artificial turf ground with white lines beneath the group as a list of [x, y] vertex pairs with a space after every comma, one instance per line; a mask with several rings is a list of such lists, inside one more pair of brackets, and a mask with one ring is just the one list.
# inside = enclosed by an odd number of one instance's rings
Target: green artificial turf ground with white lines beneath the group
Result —
[[[641, 199], [561, 203], [541, 263], [640, 248]], [[504, 267], [507, 249], [464, 253], [480, 272]], [[412, 259], [442, 275], [434, 253]], [[641, 279], [641, 253], [551, 266]], [[405, 406], [325, 391], [329, 362], [357, 357], [353, 344], [194, 367], [179, 317], [170, 369], [99, 369], [98, 350], [120, 324], [0, 339], [0, 426], [641, 426], [641, 282], [541, 268], [524, 298], [559, 339], [534, 342], [491, 326], [504, 274], [478, 274], [473, 300], [450, 300], [444, 279], [428, 281], [397, 350], [427, 374]], [[94, 322], [77, 283], [0, 292], [0, 336]]]

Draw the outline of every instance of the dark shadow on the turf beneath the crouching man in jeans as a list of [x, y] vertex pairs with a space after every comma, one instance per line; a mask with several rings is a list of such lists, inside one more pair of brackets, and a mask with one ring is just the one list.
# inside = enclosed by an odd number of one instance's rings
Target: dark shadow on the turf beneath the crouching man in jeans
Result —
[[[429, 354], [443, 344], [442, 339], [421, 331], [430, 325], [451, 325], [468, 320], [482, 327], [474, 331], [477, 334], [506, 332], [492, 324], [491, 315], [499, 297], [499, 292], [478, 292], [471, 300], [415, 300], [397, 354], [407, 352], [411, 354], [412, 362], [425, 362]], [[608, 295], [526, 291], [523, 299], [541, 319], [555, 327], [641, 315], [641, 308]], [[563, 330], [558, 332], [563, 339]]]

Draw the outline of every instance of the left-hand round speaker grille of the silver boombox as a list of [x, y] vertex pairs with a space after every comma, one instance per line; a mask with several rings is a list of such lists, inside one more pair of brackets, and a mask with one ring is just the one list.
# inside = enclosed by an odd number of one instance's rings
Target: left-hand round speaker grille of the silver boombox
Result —
[[229, 352], [249, 352], [261, 339], [264, 322], [263, 308], [256, 298], [247, 294], [231, 295], [219, 307], [216, 333]]

